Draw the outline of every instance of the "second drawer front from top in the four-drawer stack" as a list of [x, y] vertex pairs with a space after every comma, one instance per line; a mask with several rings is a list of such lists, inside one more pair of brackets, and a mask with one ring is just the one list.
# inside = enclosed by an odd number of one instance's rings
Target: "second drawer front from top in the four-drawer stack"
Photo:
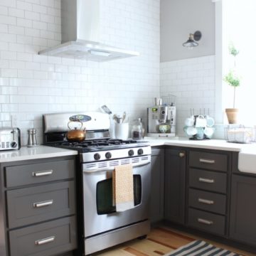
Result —
[[226, 193], [227, 175], [214, 171], [189, 169], [189, 186], [207, 191]]

